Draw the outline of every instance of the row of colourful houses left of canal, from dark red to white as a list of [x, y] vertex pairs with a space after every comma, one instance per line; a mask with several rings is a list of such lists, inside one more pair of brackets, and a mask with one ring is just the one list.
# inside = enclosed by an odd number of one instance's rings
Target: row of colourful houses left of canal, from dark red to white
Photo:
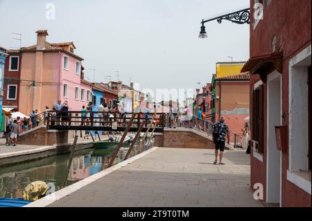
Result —
[[28, 115], [67, 100], [70, 110], [79, 111], [91, 101], [96, 111], [100, 103], [114, 107], [121, 100], [125, 111], [133, 112], [144, 99], [133, 85], [87, 82], [83, 58], [76, 55], [73, 42], [50, 43], [47, 30], [36, 33], [37, 44], [19, 50], [0, 48], [0, 104], [6, 109]]

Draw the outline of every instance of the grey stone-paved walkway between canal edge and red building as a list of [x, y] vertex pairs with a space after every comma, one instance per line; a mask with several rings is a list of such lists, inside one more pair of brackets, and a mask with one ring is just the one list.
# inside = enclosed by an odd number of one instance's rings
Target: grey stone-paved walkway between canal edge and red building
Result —
[[158, 148], [49, 206], [262, 206], [248, 186], [249, 155], [213, 161], [214, 150]]

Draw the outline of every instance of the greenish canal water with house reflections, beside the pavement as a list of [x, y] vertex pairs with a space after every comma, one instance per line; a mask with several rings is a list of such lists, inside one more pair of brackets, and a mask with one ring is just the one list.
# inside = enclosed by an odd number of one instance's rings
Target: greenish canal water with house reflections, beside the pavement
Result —
[[[153, 145], [153, 142], [151, 143]], [[119, 150], [114, 164], [123, 161], [129, 145], [124, 145]], [[136, 143], [130, 157], [137, 154], [137, 147]], [[143, 150], [150, 147], [151, 145], [144, 145]], [[76, 151], [71, 162], [67, 186], [107, 168], [111, 157], [111, 154], [101, 154], [94, 148]], [[68, 162], [69, 154], [60, 154], [0, 168], [0, 198], [21, 198], [25, 187], [35, 181], [54, 184], [55, 191], [60, 190], [67, 174]]]

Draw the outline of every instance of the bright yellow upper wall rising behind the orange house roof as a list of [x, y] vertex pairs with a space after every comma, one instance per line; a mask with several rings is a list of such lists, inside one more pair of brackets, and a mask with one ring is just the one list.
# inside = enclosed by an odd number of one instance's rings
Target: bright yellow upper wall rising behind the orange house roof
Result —
[[244, 65], [245, 62], [218, 62], [216, 63], [216, 78], [240, 74]]

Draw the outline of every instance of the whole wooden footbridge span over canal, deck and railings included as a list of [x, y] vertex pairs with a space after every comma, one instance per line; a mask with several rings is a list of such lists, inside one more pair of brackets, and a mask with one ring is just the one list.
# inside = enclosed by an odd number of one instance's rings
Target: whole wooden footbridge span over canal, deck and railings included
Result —
[[[48, 130], [92, 130], [116, 132], [164, 132], [164, 113], [48, 112]], [[140, 128], [141, 125], [141, 128]]]

